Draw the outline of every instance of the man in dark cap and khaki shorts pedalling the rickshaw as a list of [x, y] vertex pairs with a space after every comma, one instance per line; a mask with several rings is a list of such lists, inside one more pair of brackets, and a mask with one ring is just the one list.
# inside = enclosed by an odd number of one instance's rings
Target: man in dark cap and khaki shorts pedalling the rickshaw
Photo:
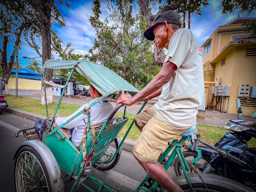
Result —
[[[157, 48], [166, 48], [162, 69], [134, 97], [121, 95], [118, 103], [132, 105], [143, 98], [159, 101], [135, 116], [142, 130], [133, 148], [133, 155], [146, 172], [167, 191], [182, 189], [157, 161], [173, 137], [196, 125], [196, 114], [203, 102], [204, 80], [200, 46], [189, 29], [180, 29], [182, 19], [177, 12], [160, 14], [144, 36]], [[188, 134], [189, 135], [189, 134]]]

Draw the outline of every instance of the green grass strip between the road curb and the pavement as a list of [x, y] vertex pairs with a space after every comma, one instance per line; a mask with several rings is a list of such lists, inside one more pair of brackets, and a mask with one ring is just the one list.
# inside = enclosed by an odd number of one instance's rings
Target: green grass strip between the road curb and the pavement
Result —
[[[46, 116], [45, 106], [40, 105], [40, 99], [33, 99], [33, 98], [20, 97], [20, 96], [18, 96], [18, 98], [15, 98], [14, 95], [7, 95], [6, 99], [7, 99], [8, 105], [12, 108]], [[56, 109], [57, 102], [53, 102], [53, 104], [47, 105], [47, 106], [48, 106], [49, 115], [52, 115]], [[78, 110], [80, 107], [81, 106], [78, 106], [78, 105], [61, 103], [59, 112], [63, 117], [67, 117], [70, 114], [74, 113], [76, 110]], [[121, 117], [123, 116], [123, 113], [117, 112], [116, 116]], [[129, 120], [119, 133], [119, 135], [122, 137], [125, 135], [135, 115], [126, 113], [125, 116], [127, 116]], [[227, 130], [223, 127], [214, 127], [210, 125], [201, 125], [201, 124], [197, 125], [197, 129], [198, 129], [197, 134], [201, 135], [201, 139], [210, 144], [215, 144], [217, 140], [219, 140], [227, 132]], [[139, 129], [135, 125], [133, 125], [127, 138], [136, 140], [139, 137], [139, 135], [140, 135]], [[174, 139], [179, 139], [179, 137], [176, 137]], [[190, 144], [190, 142], [188, 142], [187, 144]]]

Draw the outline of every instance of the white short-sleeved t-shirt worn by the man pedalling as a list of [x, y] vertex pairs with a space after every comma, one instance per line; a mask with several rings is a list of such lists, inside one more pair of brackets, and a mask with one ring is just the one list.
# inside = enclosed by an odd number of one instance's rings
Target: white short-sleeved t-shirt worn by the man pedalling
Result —
[[204, 96], [202, 53], [191, 30], [174, 33], [165, 62], [168, 60], [177, 65], [177, 70], [163, 86], [159, 102], [154, 105], [155, 113], [166, 124], [191, 128]]

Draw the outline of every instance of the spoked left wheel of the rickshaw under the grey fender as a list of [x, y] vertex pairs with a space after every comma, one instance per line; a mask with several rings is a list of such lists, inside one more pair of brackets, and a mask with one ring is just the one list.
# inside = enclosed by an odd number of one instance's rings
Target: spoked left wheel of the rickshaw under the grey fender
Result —
[[31, 146], [23, 146], [15, 159], [14, 182], [16, 192], [51, 192], [45, 163]]

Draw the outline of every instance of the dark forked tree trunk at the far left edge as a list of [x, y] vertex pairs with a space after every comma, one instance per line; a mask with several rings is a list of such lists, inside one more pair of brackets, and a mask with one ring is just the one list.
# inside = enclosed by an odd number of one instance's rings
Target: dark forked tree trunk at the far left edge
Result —
[[[20, 43], [20, 37], [22, 35], [22, 32], [24, 30], [24, 28], [27, 26], [28, 23], [22, 23], [19, 27], [19, 32], [16, 35], [16, 40], [14, 42], [14, 46], [19, 46]], [[0, 49], [0, 53], [1, 53], [1, 60], [0, 60], [0, 65], [3, 69], [3, 76], [2, 76], [2, 81], [5, 84], [5, 90], [4, 90], [4, 94], [8, 94], [8, 80], [11, 76], [11, 71], [12, 71], [12, 66], [14, 65], [14, 59], [15, 59], [15, 55], [14, 55], [14, 50], [12, 52], [12, 54], [10, 55], [10, 60], [9, 60], [9, 64], [7, 62], [7, 45], [8, 45], [8, 36], [3, 36], [4, 40], [3, 40], [3, 50]]]

